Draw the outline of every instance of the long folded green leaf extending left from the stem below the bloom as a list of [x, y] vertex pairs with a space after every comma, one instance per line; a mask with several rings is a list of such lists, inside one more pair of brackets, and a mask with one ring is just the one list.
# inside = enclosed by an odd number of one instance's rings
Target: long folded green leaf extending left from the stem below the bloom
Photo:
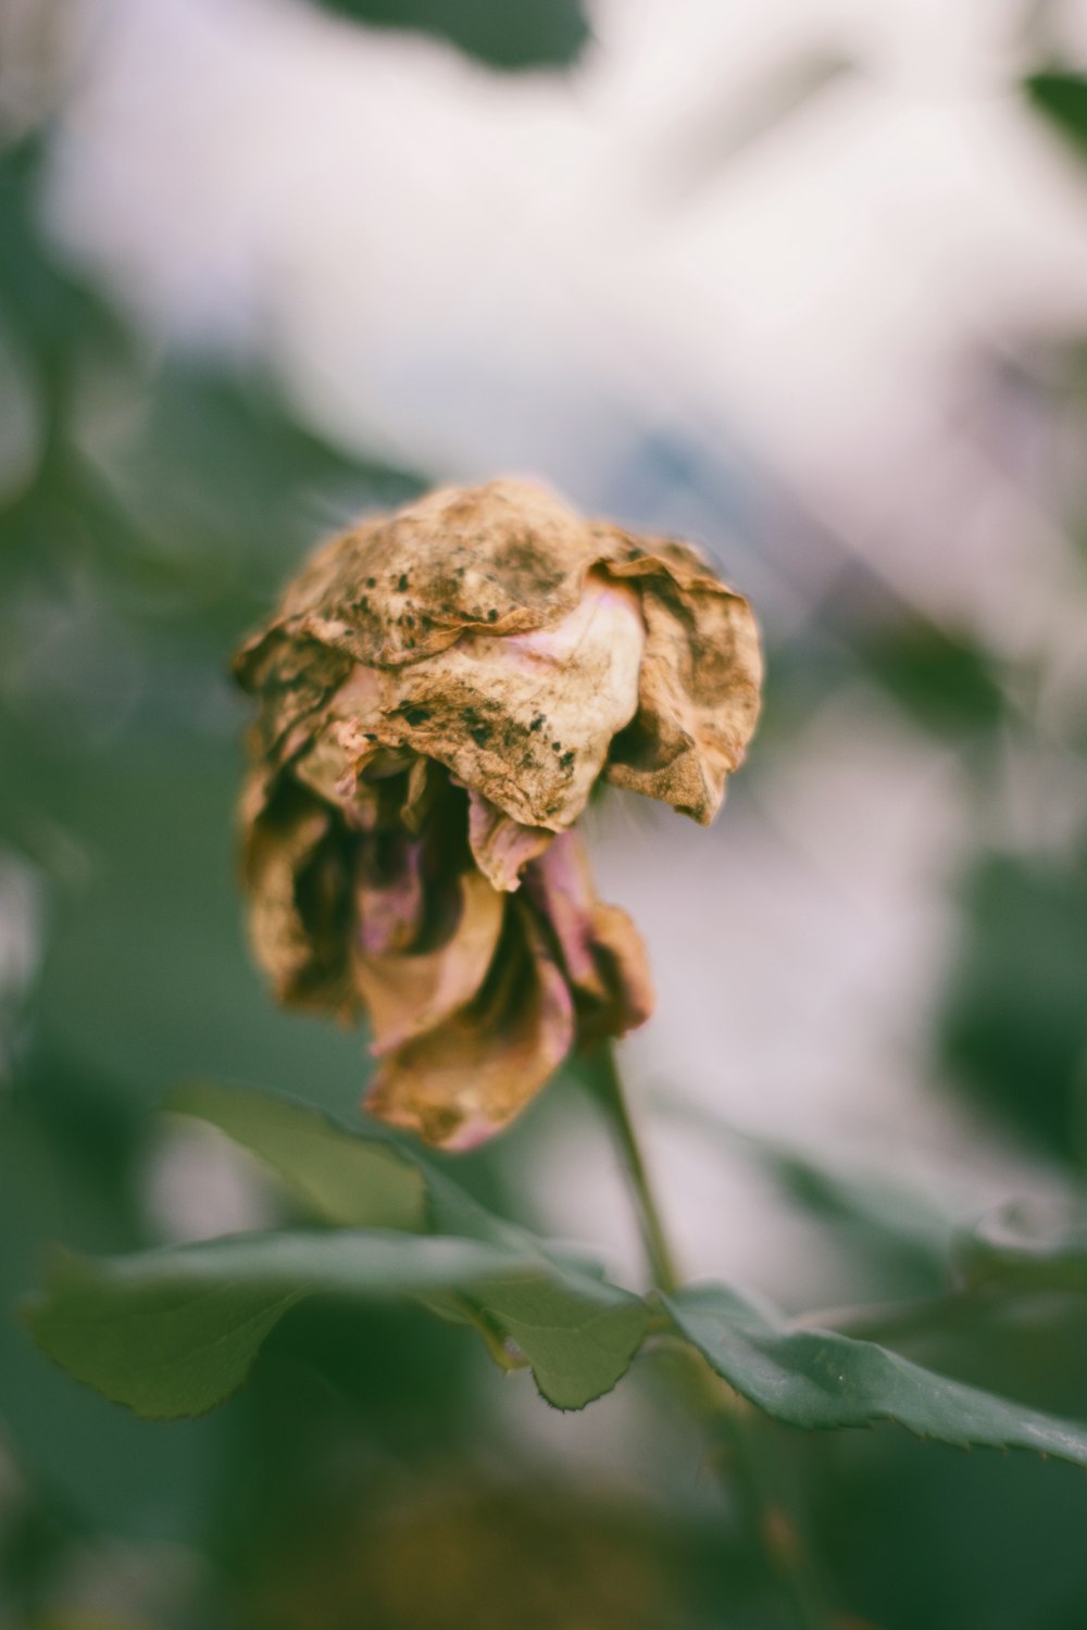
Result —
[[391, 1231], [277, 1232], [132, 1257], [64, 1255], [28, 1309], [34, 1338], [80, 1381], [140, 1415], [199, 1415], [244, 1381], [306, 1296], [453, 1291], [517, 1338], [548, 1402], [582, 1408], [631, 1363], [639, 1297], [484, 1240]]

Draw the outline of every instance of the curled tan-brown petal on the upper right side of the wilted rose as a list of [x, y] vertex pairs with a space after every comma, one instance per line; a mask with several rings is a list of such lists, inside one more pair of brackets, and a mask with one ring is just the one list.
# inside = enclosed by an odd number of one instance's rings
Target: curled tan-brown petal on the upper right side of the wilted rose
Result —
[[709, 825], [759, 714], [763, 657], [743, 595], [676, 543], [631, 543], [608, 570], [637, 580], [645, 619], [639, 707], [611, 747], [608, 781]]

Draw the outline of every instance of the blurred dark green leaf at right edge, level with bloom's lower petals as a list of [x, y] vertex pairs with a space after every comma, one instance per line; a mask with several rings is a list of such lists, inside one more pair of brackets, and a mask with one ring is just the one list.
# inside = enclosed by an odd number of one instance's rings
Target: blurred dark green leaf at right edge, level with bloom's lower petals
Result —
[[1087, 1063], [1087, 872], [988, 856], [965, 888], [965, 927], [940, 1022], [955, 1074], [1066, 1159], [1082, 1159]]

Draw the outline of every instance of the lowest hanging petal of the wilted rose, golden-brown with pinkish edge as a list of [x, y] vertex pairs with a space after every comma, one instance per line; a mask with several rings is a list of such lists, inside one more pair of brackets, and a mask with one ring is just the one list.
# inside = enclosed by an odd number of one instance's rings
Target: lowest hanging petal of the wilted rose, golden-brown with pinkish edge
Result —
[[453, 1017], [385, 1060], [370, 1113], [443, 1149], [500, 1131], [574, 1045], [574, 1001], [539, 929], [505, 895], [507, 923], [491, 975]]

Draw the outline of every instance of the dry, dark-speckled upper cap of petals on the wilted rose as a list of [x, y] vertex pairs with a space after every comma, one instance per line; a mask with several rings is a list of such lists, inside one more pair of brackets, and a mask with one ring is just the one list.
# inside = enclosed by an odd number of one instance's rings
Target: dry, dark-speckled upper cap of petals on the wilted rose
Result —
[[758, 719], [761, 654], [748, 601], [693, 549], [495, 481], [332, 540], [236, 672], [279, 763], [321, 737], [349, 787], [375, 743], [411, 748], [559, 831], [601, 771], [711, 822]]

